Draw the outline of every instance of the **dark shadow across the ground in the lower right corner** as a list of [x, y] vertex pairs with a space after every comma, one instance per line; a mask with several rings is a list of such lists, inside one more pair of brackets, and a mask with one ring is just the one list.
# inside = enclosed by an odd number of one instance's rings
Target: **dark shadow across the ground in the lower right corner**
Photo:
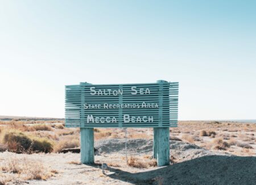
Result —
[[142, 173], [109, 170], [110, 178], [143, 185], [256, 183], [256, 157], [208, 155]]

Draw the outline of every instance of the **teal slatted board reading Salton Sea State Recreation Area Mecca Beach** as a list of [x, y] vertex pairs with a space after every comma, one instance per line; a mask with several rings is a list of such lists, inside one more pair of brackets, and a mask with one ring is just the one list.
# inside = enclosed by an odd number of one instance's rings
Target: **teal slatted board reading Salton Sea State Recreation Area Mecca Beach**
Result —
[[65, 126], [177, 127], [178, 82], [65, 86]]

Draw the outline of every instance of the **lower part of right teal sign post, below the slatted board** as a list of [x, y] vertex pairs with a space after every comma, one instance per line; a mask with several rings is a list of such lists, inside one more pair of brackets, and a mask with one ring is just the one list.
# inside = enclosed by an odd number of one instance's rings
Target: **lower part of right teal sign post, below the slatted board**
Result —
[[169, 128], [154, 128], [154, 158], [158, 166], [170, 165]]

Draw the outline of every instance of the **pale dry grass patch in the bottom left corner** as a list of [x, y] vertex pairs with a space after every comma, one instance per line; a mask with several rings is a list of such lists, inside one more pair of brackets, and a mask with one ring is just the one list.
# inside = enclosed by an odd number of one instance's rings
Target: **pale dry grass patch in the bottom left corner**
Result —
[[0, 173], [5, 173], [5, 177], [1, 179], [2, 184], [7, 182], [19, 184], [24, 180], [46, 180], [57, 171], [49, 169], [36, 160], [9, 158], [0, 164]]

